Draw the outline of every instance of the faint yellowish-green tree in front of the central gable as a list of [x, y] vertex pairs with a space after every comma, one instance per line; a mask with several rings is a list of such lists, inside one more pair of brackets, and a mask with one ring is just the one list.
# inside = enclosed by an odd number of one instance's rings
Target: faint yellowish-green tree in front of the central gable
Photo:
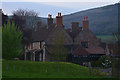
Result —
[[55, 37], [55, 45], [51, 48], [51, 58], [55, 61], [66, 61], [67, 49], [64, 46], [65, 36], [62, 33], [57, 32]]

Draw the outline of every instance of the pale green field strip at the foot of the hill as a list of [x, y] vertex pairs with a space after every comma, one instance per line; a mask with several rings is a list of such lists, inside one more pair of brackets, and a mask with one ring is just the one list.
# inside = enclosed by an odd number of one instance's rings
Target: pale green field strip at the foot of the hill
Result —
[[105, 43], [114, 43], [116, 41], [113, 35], [97, 35], [97, 38], [101, 39]]

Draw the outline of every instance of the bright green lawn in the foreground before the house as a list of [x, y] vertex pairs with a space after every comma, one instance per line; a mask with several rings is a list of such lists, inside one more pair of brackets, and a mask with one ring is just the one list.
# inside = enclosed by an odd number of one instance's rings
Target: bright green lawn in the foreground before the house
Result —
[[89, 75], [87, 67], [65, 62], [4, 60], [2, 64], [3, 78], [103, 78]]

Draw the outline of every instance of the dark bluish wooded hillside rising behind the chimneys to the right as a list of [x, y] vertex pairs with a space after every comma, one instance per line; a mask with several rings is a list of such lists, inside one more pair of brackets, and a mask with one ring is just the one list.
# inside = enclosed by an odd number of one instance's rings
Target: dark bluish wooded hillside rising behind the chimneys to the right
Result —
[[[65, 28], [70, 28], [71, 22], [79, 22], [81, 26], [84, 16], [88, 16], [90, 29], [95, 34], [111, 34], [118, 31], [118, 6], [120, 3], [64, 15], [63, 24]], [[42, 20], [45, 24], [45, 18]]]

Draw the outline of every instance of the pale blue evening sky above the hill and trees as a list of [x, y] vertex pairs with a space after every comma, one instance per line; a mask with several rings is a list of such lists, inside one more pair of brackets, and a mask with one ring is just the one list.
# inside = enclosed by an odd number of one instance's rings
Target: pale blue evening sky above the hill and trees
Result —
[[[44, 1], [44, 2], [43, 2]], [[50, 2], [51, 1], [51, 2]], [[61, 12], [62, 15], [74, 12], [111, 5], [119, 2], [118, 0], [2, 0], [0, 8], [7, 15], [11, 15], [17, 9], [34, 10], [40, 17], [47, 17], [52, 14], [53, 17]]]

